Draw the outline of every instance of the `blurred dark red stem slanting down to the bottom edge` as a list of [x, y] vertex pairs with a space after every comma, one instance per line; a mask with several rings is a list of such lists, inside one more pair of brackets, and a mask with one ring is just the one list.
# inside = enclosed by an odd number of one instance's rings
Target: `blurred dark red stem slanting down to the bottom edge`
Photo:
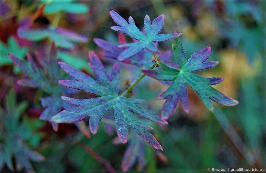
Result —
[[105, 160], [100, 156], [96, 151], [94, 151], [91, 147], [81, 143], [79, 146], [86, 151], [88, 154], [90, 154], [96, 161], [98, 161], [100, 164], [103, 164], [106, 168], [106, 170], [110, 173], [116, 173], [115, 169], [112, 167], [110, 162], [108, 160]]

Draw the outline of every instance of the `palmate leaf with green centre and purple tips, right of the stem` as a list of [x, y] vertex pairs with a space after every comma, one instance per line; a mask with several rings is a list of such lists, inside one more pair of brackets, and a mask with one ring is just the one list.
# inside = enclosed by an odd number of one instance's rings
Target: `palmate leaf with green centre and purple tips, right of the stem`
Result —
[[173, 114], [179, 99], [184, 110], [186, 112], [189, 111], [187, 84], [198, 94], [204, 105], [211, 111], [213, 110], [211, 100], [224, 106], [238, 104], [238, 101], [210, 86], [222, 82], [224, 80], [223, 77], [205, 78], [193, 73], [194, 71], [215, 67], [219, 63], [219, 61], [205, 62], [210, 53], [211, 47], [207, 46], [199, 52], [196, 51], [187, 60], [181, 40], [176, 38], [173, 44], [173, 54], [179, 69], [169, 67], [159, 61], [158, 64], [163, 70], [143, 70], [144, 74], [157, 80], [173, 81], [169, 88], [158, 96], [161, 99], [166, 99], [161, 112], [163, 119], [168, 119]]

